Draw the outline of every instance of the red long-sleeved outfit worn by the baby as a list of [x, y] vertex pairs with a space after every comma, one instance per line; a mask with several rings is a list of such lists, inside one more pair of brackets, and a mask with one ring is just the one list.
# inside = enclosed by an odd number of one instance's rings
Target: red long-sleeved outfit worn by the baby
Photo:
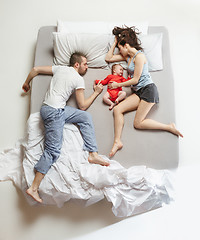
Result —
[[[96, 80], [96, 84], [101, 81], [101, 80]], [[102, 85], [107, 85], [111, 82], [117, 82], [117, 83], [121, 83], [121, 82], [125, 82], [127, 81], [126, 78], [122, 77], [122, 76], [118, 76], [118, 75], [108, 75], [104, 80], [101, 81]], [[112, 102], [115, 102], [115, 100], [118, 98], [118, 93], [120, 91], [122, 91], [122, 87], [119, 88], [115, 88], [115, 89], [110, 89], [109, 87], [107, 87], [107, 91], [110, 94], [110, 100]]]

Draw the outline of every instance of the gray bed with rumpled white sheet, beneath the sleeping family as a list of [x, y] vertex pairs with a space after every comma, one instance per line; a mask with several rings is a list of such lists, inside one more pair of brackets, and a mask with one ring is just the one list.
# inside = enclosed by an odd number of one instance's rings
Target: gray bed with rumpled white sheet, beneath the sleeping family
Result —
[[[56, 26], [40, 28], [35, 66], [54, 64], [52, 33], [56, 30]], [[149, 33], [162, 33], [163, 36], [160, 50], [162, 70], [151, 72], [160, 93], [160, 103], [152, 109], [150, 117], [161, 122], [175, 122], [168, 32], [165, 27], [149, 27]], [[93, 91], [93, 81], [104, 79], [108, 74], [109, 67], [88, 69], [84, 76], [86, 97]], [[34, 166], [43, 152], [44, 126], [39, 111], [50, 80], [51, 76], [47, 75], [33, 79], [27, 134], [13, 149], [0, 153], [0, 181], [12, 180], [31, 205], [36, 202], [26, 194], [26, 189], [33, 182]], [[129, 88], [125, 91], [127, 95], [131, 94]], [[128, 217], [169, 204], [174, 198], [172, 170], [178, 166], [178, 138], [167, 132], [136, 130], [133, 128], [135, 113], [127, 113], [122, 135], [124, 148], [113, 159], [108, 159], [114, 137], [113, 115], [102, 102], [103, 94], [87, 111], [93, 117], [99, 154], [110, 161], [110, 166], [90, 164], [88, 152], [82, 148], [83, 140], [78, 128], [65, 124], [61, 155], [39, 188], [43, 204], [62, 207], [65, 202], [73, 200], [81, 206], [89, 206], [106, 198], [112, 203], [112, 211], [117, 217]], [[76, 107], [74, 98], [72, 95], [67, 104]], [[106, 212], [106, 206], [102, 211]]]

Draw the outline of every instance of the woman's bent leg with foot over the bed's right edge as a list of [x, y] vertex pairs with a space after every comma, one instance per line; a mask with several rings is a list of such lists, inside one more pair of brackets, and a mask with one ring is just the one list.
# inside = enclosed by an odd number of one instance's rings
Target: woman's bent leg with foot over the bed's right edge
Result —
[[134, 119], [134, 127], [137, 129], [157, 129], [171, 132], [177, 136], [183, 137], [183, 135], [175, 128], [173, 123], [164, 124], [152, 119], [146, 119], [147, 114], [151, 110], [155, 103], [149, 103], [141, 100], [138, 109], [136, 111]]

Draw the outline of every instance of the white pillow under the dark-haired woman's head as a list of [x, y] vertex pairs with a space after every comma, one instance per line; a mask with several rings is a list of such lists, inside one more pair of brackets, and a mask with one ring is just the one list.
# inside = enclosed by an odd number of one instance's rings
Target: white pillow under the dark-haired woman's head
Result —
[[[163, 60], [162, 60], [162, 33], [153, 33], [148, 35], [138, 35], [138, 38], [141, 41], [141, 46], [144, 50], [145, 56], [148, 60], [149, 71], [159, 71], [163, 69]], [[109, 48], [114, 41], [112, 37], [111, 42], [109, 43]], [[118, 48], [115, 48], [114, 54], [119, 54]], [[116, 63], [116, 62], [115, 62]], [[113, 64], [109, 64], [109, 67], [112, 67]], [[127, 69], [128, 65], [126, 62], [120, 62], [124, 69]]]

